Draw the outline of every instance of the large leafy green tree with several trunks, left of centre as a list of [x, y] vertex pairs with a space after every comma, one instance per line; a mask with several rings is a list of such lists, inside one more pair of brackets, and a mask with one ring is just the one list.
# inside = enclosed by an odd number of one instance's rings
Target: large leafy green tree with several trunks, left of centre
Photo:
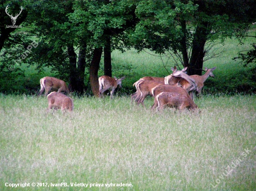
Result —
[[98, 96], [95, 87], [101, 50], [104, 49], [106, 74], [111, 76], [111, 50], [122, 49], [117, 44], [125, 36], [124, 31], [135, 25], [135, 7], [127, 0], [47, 0], [31, 9], [37, 18], [34, 33], [40, 37], [34, 63], [39, 68], [51, 66], [70, 81], [71, 90], [80, 94], [86, 89], [84, 73], [88, 67], [93, 93]]

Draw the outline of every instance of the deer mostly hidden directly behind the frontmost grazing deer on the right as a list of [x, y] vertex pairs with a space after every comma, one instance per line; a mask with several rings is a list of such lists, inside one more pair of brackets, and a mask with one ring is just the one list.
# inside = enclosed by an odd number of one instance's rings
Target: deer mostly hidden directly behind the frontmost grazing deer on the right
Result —
[[158, 102], [156, 100], [156, 96], [162, 92], [174, 92], [177, 94], [180, 94], [182, 96], [187, 96], [190, 100], [190, 102], [192, 102], [192, 98], [189, 96], [188, 92], [182, 88], [182, 87], [175, 87], [175, 86], [171, 86], [171, 85], [157, 85], [152, 89], [152, 95], [154, 96], [154, 104], [152, 105], [151, 109], [154, 109], [155, 107], [158, 106]]

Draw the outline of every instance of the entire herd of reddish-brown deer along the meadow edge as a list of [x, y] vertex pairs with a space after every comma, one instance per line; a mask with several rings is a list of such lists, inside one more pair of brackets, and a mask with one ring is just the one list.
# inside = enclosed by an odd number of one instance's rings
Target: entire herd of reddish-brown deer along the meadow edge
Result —
[[[145, 76], [140, 78], [133, 84], [136, 88], [136, 92], [131, 95], [131, 102], [136, 102], [137, 105], [144, 106], [145, 98], [149, 96], [154, 97], [154, 104], [151, 109], [157, 108], [162, 111], [164, 106], [173, 107], [176, 109], [188, 108], [189, 110], [195, 110], [197, 105], [193, 101], [195, 92], [202, 95], [201, 91], [206, 79], [211, 76], [214, 77], [213, 70], [216, 67], [208, 69], [205, 67], [205, 74], [199, 75], [187, 75], [187, 67], [183, 70], [177, 70], [177, 68], [171, 68], [173, 73], [166, 77], [151, 77]], [[117, 86], [121, 87], [121, 82], [125, 77], [116, 78], [114, 76], [101, 76], [99, 77], [99, 97], [106, 90], [110, 90], [110, 99], [113, 98], [113, 94]], [[73, 100], [62, 94], [64, 92], [69, 94], [69, 89], [64, 81], [55, 77], [43, 77], [40, 79], [40, 92], [38, 96], [41, 96], [45, 91], [45, 96], [48, 100], [48, 108], [58, 109], [62, 112], [73, 111], [74, 103]], [[48, 93], [51, 90], [57, 90], [57, 92]]]

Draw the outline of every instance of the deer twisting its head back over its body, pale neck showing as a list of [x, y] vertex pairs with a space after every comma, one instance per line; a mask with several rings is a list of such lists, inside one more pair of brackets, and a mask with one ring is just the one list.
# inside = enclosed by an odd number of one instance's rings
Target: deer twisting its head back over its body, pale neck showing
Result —
[[187, 68], [188, 67], [182, 70], [176, 70], [172, 68], [173, 73], [164, 78], [164, 83], [168, 85], [172, 85], [180, 81], [180, 84], [182, 85], [182, 87], [186, 89], [186, 91], [189, 93], [189, 95], [193, 99], [193, 92], [196, 90], [197, 84], [195, 82], [195, 79], [193, 79], [191, 76], [185, 73]]

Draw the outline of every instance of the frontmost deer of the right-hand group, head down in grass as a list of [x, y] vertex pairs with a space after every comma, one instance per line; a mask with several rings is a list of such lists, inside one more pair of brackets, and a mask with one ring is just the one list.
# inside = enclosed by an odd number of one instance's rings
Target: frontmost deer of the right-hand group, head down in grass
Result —
[[189, 95], [181, 95], [176, 92], [161, 92], [156, 96], [156, 100], [158, 103], [158, 110], [163, 110], [165, 105], [177, 109], [188, 108], [194, 110], [195, 108], [198, 108]]

